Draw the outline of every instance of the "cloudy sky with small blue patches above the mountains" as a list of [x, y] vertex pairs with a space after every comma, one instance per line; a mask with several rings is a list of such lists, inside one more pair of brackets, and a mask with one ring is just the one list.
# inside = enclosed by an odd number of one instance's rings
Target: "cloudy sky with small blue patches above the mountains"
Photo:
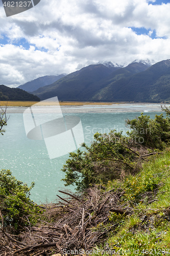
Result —
[[170, 58], [168, 1], [41, 0], [10, 17], [0, 3], [0, 83], [10, 87], [96, 62]]

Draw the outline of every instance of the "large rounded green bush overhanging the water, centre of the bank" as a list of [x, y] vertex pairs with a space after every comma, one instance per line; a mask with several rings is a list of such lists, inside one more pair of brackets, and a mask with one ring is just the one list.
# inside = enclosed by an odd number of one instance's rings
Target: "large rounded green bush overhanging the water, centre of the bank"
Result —
[[121, 133], [111, 131], [109, 135], [96, 133], [94, 142], [85, 151], [70, 153], [62, 171], [66, 173], [65, 185], [77, 185], [78, 190], [92, 184], [104, 184], [131, 173], [138, 156], [129, 150], [128, 141]]

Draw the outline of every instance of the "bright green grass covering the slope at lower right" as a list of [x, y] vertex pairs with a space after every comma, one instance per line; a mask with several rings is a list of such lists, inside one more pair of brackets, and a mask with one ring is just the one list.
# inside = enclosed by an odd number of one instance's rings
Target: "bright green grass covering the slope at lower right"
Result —
[[[129, 207], [134, 213], [131, 216], [111, 213], [110, 223], [117, 225], [105, 246], [96, 247], [98, 255], [108, 255], [106, 248], [116, 255], [170, 254], [169, 150], [144, 162], [137, 175], [129, 176], [124, 181], [109, 182], [108, 189], [120, 186], [126, 191], [124, 202], [129, 200]], [[147, 194], [145, 198], [140, 196], [147, 191], [154, 193], [155, 188], [155, 201], [149, 203]]]

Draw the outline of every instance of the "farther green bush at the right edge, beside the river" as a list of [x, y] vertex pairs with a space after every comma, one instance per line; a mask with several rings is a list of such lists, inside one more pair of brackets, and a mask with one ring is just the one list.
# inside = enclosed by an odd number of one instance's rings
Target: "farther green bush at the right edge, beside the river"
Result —
[[163, 150], [169, 146], [170, 141], [170, 119], [164, 118], [163, 114], [156, 115], [155, 119], [150, 119], [148, 115], [141, 115], [133, 120], [126, 121], [131, 132], [128, 134], [135, 140], [149, 148]]

